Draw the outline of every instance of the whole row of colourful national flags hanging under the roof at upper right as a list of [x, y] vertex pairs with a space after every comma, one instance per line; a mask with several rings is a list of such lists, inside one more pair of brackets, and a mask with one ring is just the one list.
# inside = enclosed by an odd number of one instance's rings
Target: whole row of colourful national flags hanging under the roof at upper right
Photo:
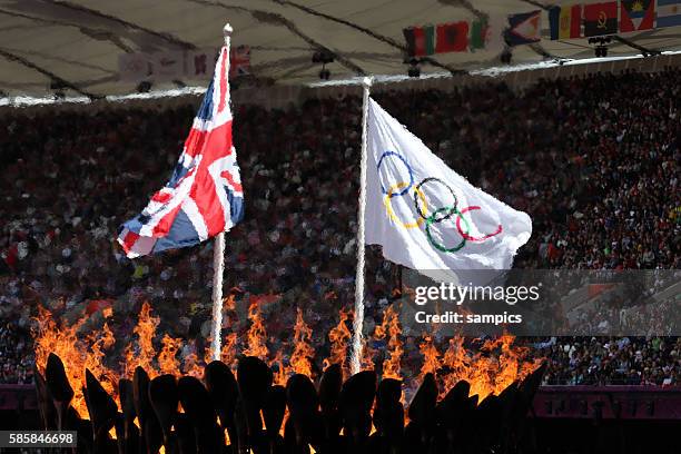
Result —
[[[547, 9], [551, 40], [599, 37], [681, 26], [681, 0], [611, 0]], [[510, 14], [503, 21], [456, 21], [403, 30], [413, 57], [488, 49], [495, 37], [507, 46], [542, 39], [542, 10]]]

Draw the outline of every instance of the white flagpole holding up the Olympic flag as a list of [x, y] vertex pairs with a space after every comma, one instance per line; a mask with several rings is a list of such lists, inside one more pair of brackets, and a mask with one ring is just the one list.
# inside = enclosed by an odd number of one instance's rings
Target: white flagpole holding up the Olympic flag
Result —
[[364, 325], [364, 211], [366, 209], [366, 127], [368, 117], [368, 98], [373, 78], [362, 81], [362, 155], [359, 160], [359, 210], [357, 213], [357, 275], [355, 277], [355, 316], [353, 319], [353, 349], [351, 374], [362, 369], [362, 327]]

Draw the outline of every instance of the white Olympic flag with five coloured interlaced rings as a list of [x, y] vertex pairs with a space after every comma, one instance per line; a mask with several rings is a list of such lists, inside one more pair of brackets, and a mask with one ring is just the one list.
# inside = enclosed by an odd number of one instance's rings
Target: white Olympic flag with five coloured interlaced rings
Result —
[[369, 98], [366, 244], [433, 279], [509, 269], [532, 221], [448, 168]]

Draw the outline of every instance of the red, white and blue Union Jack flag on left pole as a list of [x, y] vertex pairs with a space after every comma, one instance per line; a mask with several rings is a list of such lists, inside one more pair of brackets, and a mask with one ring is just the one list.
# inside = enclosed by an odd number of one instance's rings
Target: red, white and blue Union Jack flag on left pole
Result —
[[118, 243], [128, 258], [194, 246], [244, 217], [228, 75], [229, 50], [223, 47], [172, 177], [120, 228]]

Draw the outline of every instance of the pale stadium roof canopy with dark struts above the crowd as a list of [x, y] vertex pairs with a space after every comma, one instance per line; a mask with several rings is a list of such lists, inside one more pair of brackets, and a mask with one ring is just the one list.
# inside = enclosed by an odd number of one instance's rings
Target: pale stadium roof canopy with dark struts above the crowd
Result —
[[[148, 90], [141, 81], [154, 88], [203, 86], [203, 68], [223, 41], [225, 22], [234, 27], [234, 48], [241, 47], [235, 76], [264, 85], [318, 81], [323, 69], [333, 79], [407, 75], [409, 55], [421, 60], [422, 73], [458, 73], [507, 62], [681, 49], [681, 13], [673, 1], [628, 2], [631, 10], [619, 1], [573, 3], [4, 1], [0, 89], [12, 96], [98, 97]], [[590, 42], [594, 37], [610, 40]]]

